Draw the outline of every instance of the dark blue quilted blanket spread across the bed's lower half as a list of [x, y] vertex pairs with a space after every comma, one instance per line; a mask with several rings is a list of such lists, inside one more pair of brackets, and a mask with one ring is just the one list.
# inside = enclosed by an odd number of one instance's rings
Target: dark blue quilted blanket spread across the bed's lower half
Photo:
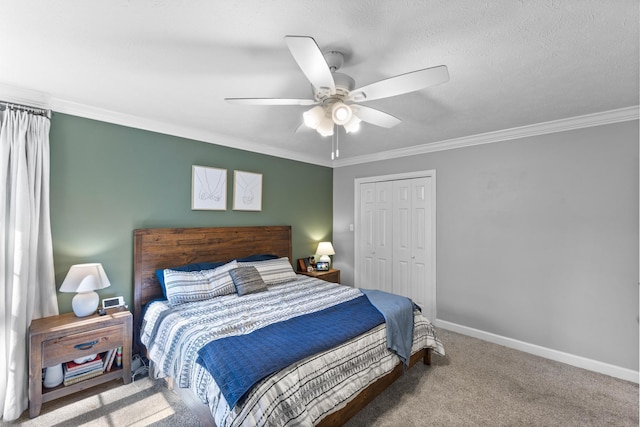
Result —
[[261, 379], [384, 323], [363, 296], [267, 325], [246, 335], [211, 341], [198, 351], [230, 408]]

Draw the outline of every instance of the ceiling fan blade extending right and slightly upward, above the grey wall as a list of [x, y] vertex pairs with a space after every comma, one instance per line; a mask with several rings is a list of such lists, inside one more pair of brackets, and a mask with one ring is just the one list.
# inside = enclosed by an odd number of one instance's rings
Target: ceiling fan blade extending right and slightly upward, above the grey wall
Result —
[[423, 70], [412, 71], [399, 76], [380, 80], [376, 83], [363, 86], [351, 91], [348, 96], [349, 101], [362, 102], [374, 99], [389, 98], [391, 96], [402, 95], [424, 89], [449, 81], [449, 71], [446, 65], [425, 68]]

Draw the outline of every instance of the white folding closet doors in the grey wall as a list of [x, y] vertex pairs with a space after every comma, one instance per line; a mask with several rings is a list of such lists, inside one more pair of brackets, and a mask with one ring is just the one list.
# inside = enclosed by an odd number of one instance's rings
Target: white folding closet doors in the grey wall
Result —
[[409, 297], [431, 320], [436, 318], [434, 185], [431, 174], [359, 183], [356, 233], [356, 286]]

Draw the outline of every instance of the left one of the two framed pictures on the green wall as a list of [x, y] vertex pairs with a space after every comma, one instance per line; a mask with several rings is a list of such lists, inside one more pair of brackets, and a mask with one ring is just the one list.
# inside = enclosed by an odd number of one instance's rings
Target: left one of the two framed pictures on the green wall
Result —
[[191, 167], [191, 209], [227, 210], [227, 170]]

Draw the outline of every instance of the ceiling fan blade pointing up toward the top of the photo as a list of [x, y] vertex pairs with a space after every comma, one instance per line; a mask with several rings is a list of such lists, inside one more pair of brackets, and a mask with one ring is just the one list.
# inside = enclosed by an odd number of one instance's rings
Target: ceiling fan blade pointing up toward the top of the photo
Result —
[[306, 36], [285, 36], [289, 51], [298, 66], [316, 89], [326, 89], [331, 95], [336, 93], [331, 70], [316, 41]]

